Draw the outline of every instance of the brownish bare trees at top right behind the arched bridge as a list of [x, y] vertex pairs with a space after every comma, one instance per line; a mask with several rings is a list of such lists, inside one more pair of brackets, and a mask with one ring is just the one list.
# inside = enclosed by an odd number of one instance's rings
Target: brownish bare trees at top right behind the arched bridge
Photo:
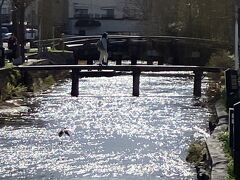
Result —
[[234, 0], [128, 0], [143, 12], [147, 35], [231, 41]]

